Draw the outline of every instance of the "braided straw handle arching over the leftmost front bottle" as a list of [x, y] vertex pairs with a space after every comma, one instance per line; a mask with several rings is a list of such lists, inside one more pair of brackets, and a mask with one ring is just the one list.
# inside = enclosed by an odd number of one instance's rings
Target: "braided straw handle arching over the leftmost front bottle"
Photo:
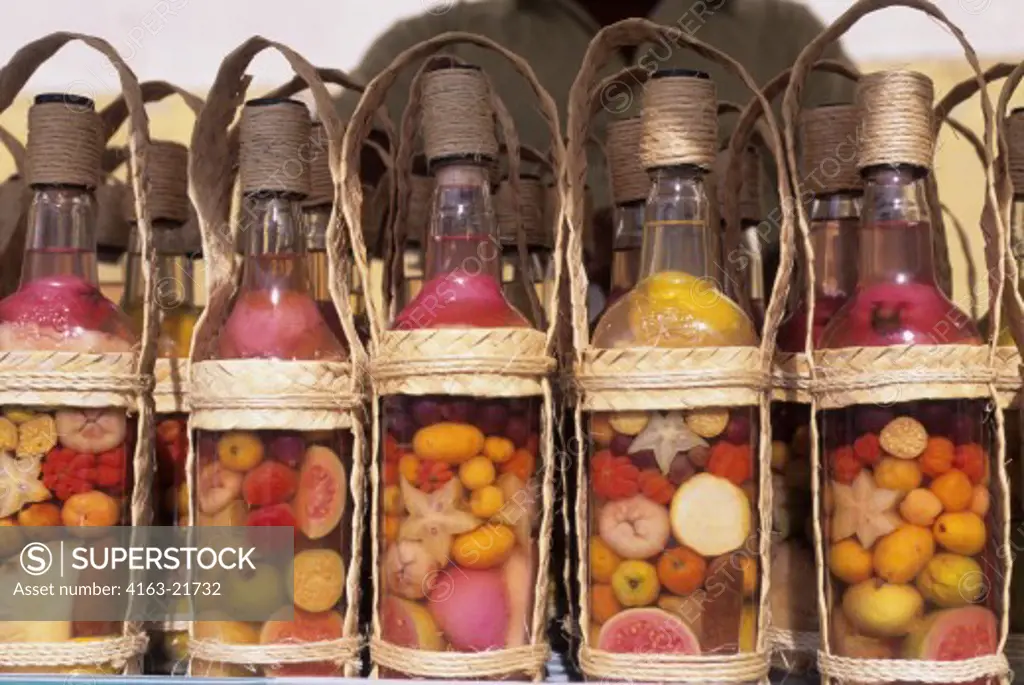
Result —
[[[145, 116], [145, 109], [142, 100], [142, 93], [138, 80], [134, 73], [118, 54], [117, 50], [101, 38], [87, 36], [84, 34], [57, 32], [35, 40], [15, 52], [10, 60], [0, 71], [0, 114], [10, 108], [14, 98], [32, 78], [36, 70], [53, 56], [61, 47], [72, 41], [81, 41], [92, 49], [102, 54], [117, 71], [118, 80], [121, 84], [125, 103], [128, 110], [129, 137], [128, 147], [131, 155], [130, 179], [132, 192], [135, 198], [135, 216], [138, 217], [139, 251], [142, 255], [142, 282], [143, 282], [143, 314], [142, 314], [142, 340], [139, 353], [135, 362], [135, 374], [140, 377], [152, 376], [157, 358], [157, 336], [158, 320], [156, 311], [156, 294], [154, 292], [153, 262], [155, 252], [153, 247], [153, 237], [151, 232], [151, 216], [147, 192], [147, 155], [150, 149], [150, 124]], [[153, 397], [148, 393], [140, 393], [137, 398], [138, 426], [135, 440], [135, 454], [133, 456], [132, 468], [134, 480], [132, 486], [131, 520], [133, 525], [145, 525], [150, 522], [152, 511], [150, 509], [150, 493], [153, 489], [153, 466], [150, 460], [152, 446], [154, 403]], [[128, 653], [134, 651], [140, 654], [144, 650], [144, 637], [141, 636], [141, 626], [137, 622], [125, 622], [123, 626], [124, 637], [110, 640], [110, 651], [124, 654], [125, 645], [134, 645]], [[36, 645], [41, 647], [42, 645]], [[91, 645], [99, 647], [99, 645]], [[47, 647], [47, 650], [50, 648]], [[74, 647], [71, 647], [73, 651]], [[65, 653], [69, 646], [63, 644], [52, 645], [52, 651]], [[102, 659], [104, 657], [94, 655], [95, 650], [86, 650], [91, 656], [86, 659]], [[106, 651], [106, 647], [100, 648], [101, 652]], [[122, 663], [127, 661], [127, 657], [118, 657]], [[131, 668], [128, 662], [128, 668]]]

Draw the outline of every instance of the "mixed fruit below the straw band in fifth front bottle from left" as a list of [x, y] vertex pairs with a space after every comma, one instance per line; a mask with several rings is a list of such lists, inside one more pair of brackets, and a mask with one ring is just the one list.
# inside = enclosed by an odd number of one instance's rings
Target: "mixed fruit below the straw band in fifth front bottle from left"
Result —
[[834, 652], [995, 653], [1004, 561], [986, 401], [858, 405], [821, 421]]

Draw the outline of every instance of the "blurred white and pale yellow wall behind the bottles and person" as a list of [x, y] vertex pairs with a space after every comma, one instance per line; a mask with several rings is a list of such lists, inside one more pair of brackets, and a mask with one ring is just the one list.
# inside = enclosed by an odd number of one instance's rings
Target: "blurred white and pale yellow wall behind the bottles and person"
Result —
[[[34, 0], [18, 3], [5, 13], [0, 59], [6, 61], [23, 44], [53, 31], [66, 30], [101, 36], [127, 59], [140, 80], [161, 79], [205, 95], [221, 58], [246, 38], [261, 34], [284, 42], [313, 63], [343, 70], [353, 68], [374, 38], [395, 20], [425, 11], [444, 12], [451, 0]], [[825, 23], [835, 19], [848, 0], [805, 2]], [[958, 25], [973, 43], [982, 62], [1018, 62], [1024, 58], [1020, 39], [1024, 25], [1021, 0], [938, 0], [936, 4]], [[699, 35], [697, 36], [699, 37]], [[928, 74], [936, 92], [944, 94], [970, 76], [963, 51], [952, 36], [919, 12], [888, 10], [869, 16], [846, 38], [846, 49], [861, 71], [904, 68]], [[291, 77], [283, 58], [261, 55], [253, 65], [254, 91], [280, 85]], [[991, 93], [995, 97], [995, 84]], [[119, 89], [112, 68], [98, 54], [80, 46], [65, 48], [45, 65], [15, 102], [0, 118], [0, 125], [24, 139], [31, 94], [68, 90], [93, 97], [102, 105]], [[193, 125], [190, 112], [177, 98], [150, 105], [155, 138], [187, 142]], [[564, 113], [563, 113], [564, 114]], [[963, 105], [954, 117], [981, 131], [977, 98]], [[124, 137], [122, 132], [121, 137]], [[0, 154], [0, 174], [13, 170], [11, 160]], [[981, 167], [972, 148], [946, 129], [940, 140], [936, 170], [943, 204], [963, 226], [967, 242], [950, 239], [955, 273], [954, 299], [970, 309], [967, 273], [973, 265], [984, 271], [978, 217], [981, 212]], [[949, 221], [950, 226], [955, 222]], [[118, 294], [123, 267], [105, 265], [101, 279]], [[983, 281], [983, 280], [982, 280]], [[978, 294], [984, 302], [984, 294]]]

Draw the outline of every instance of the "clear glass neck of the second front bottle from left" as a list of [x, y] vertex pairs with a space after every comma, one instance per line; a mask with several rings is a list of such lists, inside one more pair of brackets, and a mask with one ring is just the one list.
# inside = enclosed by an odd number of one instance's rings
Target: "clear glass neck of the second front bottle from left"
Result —
[[243, 198], [245, 260], [242, 290], [309, 292], [300, 198], [253, 194]]

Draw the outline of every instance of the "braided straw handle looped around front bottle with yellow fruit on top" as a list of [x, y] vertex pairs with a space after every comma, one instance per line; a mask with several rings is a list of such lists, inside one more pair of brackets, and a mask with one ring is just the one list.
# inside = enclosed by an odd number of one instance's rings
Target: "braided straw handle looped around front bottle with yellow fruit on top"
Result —
[[[569, 243], [568, 243], [568, 255], [566, 262], [569, 268], [569, 279], [570, 279], [570, 293], [571, 293], [571, 309], [572, 309], [572, 332], [574, 340], [574, 348], [577, 355], [577, 363], [582, 365], [584, 362], [584, 352], [589, 347], [588, 341], [588, 325], [587, 325], [587, 312], [586, 312], [586, 293], [587, 293], [587, 274], [583, 269], [583, 244], [582, 244], [582, 232], [584, 227], [584, 221], [586, 217], [585, 207], [584, 207], [584, 189], [587, 177], [587, 156], [586, 156], [586, 141], [588, 138], [588, 132], [592, 120], [592, 114], [594, 112], [594, 95], [595, 93], [606, 92], [599, 89], [595, 89], [594, 84], [598, 78], [598, 74], [608, 59], [621, 48], [631, 45], [637, 45], [643, 42], [654, 42], [660, 40], [671, 40], [672, 43], [677, 45], [683, 45], [693, 50], [697, 54], [711, 59], [715, 62], [721, 63], [726, 70], [728, 70], [733, 75], [737, 76], [751, 92], [755, 93], [756, 97], [762, 98], [760, 89], [754, 79], [750, 74], [734, 59], [726, 55], [724, 52], [703, 43], [691, 36], [674, 31], [669, 27], [658, 26], [652, 22], [641, 18], [626, 19], [614, 24], [612, 26], [602, 29], [597, 36], [591, 41], [590, 46], [587, 49], [587, 53], [584, 56], [583, 65], [580, 69], [577, 79], [572, 84], [572, 89], [569, 91], [569, 104], [568, 104], [568, 155], [566, 157], [566, 168], [565, 168], [565, 179], [570, 192], [570, 204], [568, 207], [568, 223], [569, 223]], [[600, 88], [600, 86], [599, 86]], [[781, 135], [779, 133], [779, 127], [775, 122], [773, 114], [770, 112], [770, 106], [767, 101], [764, 101], [764, 108], [767, 111], [766, 117], [769, 124], [769, 136], [777, 147], [782, 145]], [[776, 166], [778, 171], [778, 182], [779, 182], [779, 197], [788, 198], [792, 196], [790, 190], [790, 180], [788, 175], [785, 173], [785, 168], [782, 166], [780, 160], [776, 160]], [[790, 242], [790, 237], [793, 231], [793, 213], [792, 207], [787, 204], [783, 204], [783, 223], [782, 223], [782, 236], [783, 236], [783, 250], [781, 255], [781, 263], [778, 270], [778, 275], [775, 284], [775, 290], [772, 295], [772, 301], [769, 303], [766, 315], [766, 330], [765, 335], [762, 340], [762, 346], [758, 351], [758, 366], [764, 370], [765, 373], [769, 370], [769, 365], [771, 360], [770, 351], [774, 348], [775, 334], [778, 330], [778, 325], [781, 319], [782, 308], [780, 304], [785, 301], [786, 292], [790, 287], [791, 274], [793, 271], [793, 255], [792, 251], [787, 249], [786, 244]], [[764, 434], [768, 430], [767, 426], [767, 409], [762, 402], [762, 421], [766, 423], [762, 426], [762, 444], [761, 444], [761, 459], [762, 462], [766, 458], [766, 447]], [[583, 420], [582, 410], [578, 406], [575, 412], [578, 424]], [[577, 429], [578, 439], [582, 439], [582, 433], [578, 426]], [[583, 465], [582, 461], [579, 466], [579, 473], [581, 479], [583, 479]], [[582, 482], [582, 480], [581, 480]], [[761, 487], [762, 497], [759, 507], [763, 515], [762, 526], [764, 530], [771, 529], [771, 505], [770, 505], [770, 481], [766, 484], [764, 479], [762, 479]], [[582, 520], [584, 514], [582, 513], [585, 507], [586, 496], [584, 490], [581, 489], [580, 498], [577, 501], [577, 516], [578, 520]], [[581, 523], [581, 525], [585, 525]], [[585, 529], [585, 528], [584, 528]], [[768, 591], [770, 586], [770, 556], [768, 554], [768, 536], [764, 534], [761, 541], [761, 597], [759, 605], [758, 614], [758, 635], [756, 640], [755, 650], [758, 653], [763, 653], [766, 650], [767, 643], [767, 617], [768, 617]], [[581, 554], [583, 553], [583, 548], [581, 548]], [[580, 564], [580, 582], [584, 589], [586, 589], [587, 579], [586, 579], [586, 560], [584, 558], [579, 559]], [[582, 620], [586, 620], [587, 616], [587, 601], [582, 599], [580, 601], [581, 610], [583, 613]], [[584, 623], [584, 626], [586, 624]], [[583, 631], [582, 635], [583, 650], [589, 652], [590, 650], [590, 637], [586, 630]], [[600, 652], [598, 652], [600, 653]], [[593, 653], [591, 653], [593, 657]], [[601, 658], [600, 656], [598, 658]], [[717, 677], [711, 678], [711, 680], [718, 679], [733, 679], [736, 674], [730, 671], [728, 658], [722, 659], [721, 663], [716, 666]], [[692, 674], [691, 674], [692, 675]], [[742, 680], [750, 680], [752, 677], [757, 679], [758, 676], [752, 676], [750, 673], [741, 674]], [[684, 673], [675, 673], [674, 677], [680, 678], [685, 676]], [[656, 679], [656, 678], [654, 678]]]

